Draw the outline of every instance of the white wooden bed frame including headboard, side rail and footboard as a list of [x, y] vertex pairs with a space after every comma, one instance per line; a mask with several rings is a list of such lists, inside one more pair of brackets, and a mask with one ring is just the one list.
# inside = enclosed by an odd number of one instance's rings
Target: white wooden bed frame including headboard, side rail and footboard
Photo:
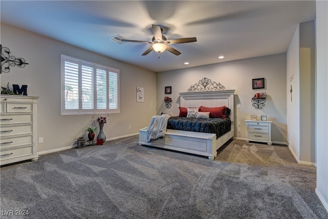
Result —
[[147, 127], [139, 130], [139, 145], [148, 145], [175, 151], [208, 156], [214, 160], [217, 149], [234, 137], [234, 93], [235, 90], [180, 93], [181, 107], [218, 107], [231, 109], [231, 130], [216, 138], [216, 134], [167, 129], [165, 137], [147, 142]]

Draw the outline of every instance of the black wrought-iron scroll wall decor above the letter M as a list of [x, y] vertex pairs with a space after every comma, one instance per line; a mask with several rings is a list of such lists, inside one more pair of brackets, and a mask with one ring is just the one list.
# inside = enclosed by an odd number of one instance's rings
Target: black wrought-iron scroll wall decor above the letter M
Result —
[[0, 74], [2, 72], [9, 72], [10, 67], [18, 66], [19, 68], [24, 68], [25, 65], [28, 65], [26, 63], [24, 58], [16, 58], [13, 55], [10, 55], [10, 50], [7, 47], [3, 47], [0, 44], [1, 47], [1, 70]]

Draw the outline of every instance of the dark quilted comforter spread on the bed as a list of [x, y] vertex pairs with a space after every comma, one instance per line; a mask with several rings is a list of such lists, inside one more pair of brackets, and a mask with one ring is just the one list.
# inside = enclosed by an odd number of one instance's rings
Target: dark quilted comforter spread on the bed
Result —
[[214, 133], [216, 137], [231, 130], [230, 118], [187, 118], [170, 117], [167, 129]]

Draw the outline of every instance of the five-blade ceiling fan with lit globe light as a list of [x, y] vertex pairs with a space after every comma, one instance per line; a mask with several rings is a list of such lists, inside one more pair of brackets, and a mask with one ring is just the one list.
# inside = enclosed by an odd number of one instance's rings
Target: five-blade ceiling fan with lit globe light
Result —
[[[192, 43], [192, 42], [197, 42], [196, 37], [189, 37], [189, 38], [179, 38], [179, 39], [170, 39], [168, 40], [166, 36], [162, 35], [162, 29], [158, 25], [152, 25], [153, 29], [153, 42], [149, 41], [134, 41], [131, 39], [121, 39], [122, 42], [132, 42], [132, 43], [148, 43], [152, 44], [152, 46], [142, 55], [147, 55], [151, 51], [155, 51], [158, 53], [164, 52], [165, 50], [168, 50], [169, 52], [175, 54], [175, 55], [180, 55], [181, 52], [178, 50], [174, 49], [171, 47], [171, 44], [183, 44], [183, 43]], [[159, 57], [158, 57], [159, 58]]]

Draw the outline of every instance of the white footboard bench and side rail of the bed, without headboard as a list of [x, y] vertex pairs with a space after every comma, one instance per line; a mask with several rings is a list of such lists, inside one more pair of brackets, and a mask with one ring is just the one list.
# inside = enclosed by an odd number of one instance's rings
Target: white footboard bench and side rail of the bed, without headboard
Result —
[[216, 150], [234, 136], [233, 130], [216, 139], [216, 134], [167, 129], [165, 137], [147, 142], [147, 129], [139, 130], [139, 145], [208, 156], [210, 160], [214, 160]]

